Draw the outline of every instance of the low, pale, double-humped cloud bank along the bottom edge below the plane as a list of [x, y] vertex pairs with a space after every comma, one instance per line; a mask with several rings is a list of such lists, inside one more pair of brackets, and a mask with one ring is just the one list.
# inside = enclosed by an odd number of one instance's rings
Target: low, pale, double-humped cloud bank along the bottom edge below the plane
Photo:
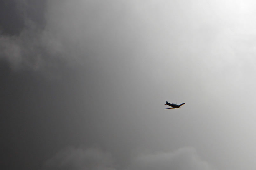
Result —
[[192, 147], [133, 156], [127, 167], [120, 167], [110, 153], [99, 149], [67, 148], [48, 160], [44, 170], [214, 170]]

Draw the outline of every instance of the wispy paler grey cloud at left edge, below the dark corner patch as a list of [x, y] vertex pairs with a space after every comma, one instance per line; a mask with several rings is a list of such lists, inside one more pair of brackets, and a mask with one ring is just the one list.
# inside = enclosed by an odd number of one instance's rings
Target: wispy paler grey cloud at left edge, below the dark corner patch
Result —
[[13, 70], [29, 68], [47, 73], [64, 59], [61, 43], [37, 28], [24, 29], [18, 36], [1, 35], [0, 41], [0, 56], [10, 61]]

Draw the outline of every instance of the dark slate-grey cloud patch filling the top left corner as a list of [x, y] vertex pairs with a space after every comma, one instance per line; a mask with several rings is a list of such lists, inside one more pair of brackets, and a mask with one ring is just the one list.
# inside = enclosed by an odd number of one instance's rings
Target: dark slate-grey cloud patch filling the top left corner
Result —
[[45, 0], [13, 0], [0, 2], [0, 32], [5, 36], [18, 36], [27, 22], [44, 28]]

